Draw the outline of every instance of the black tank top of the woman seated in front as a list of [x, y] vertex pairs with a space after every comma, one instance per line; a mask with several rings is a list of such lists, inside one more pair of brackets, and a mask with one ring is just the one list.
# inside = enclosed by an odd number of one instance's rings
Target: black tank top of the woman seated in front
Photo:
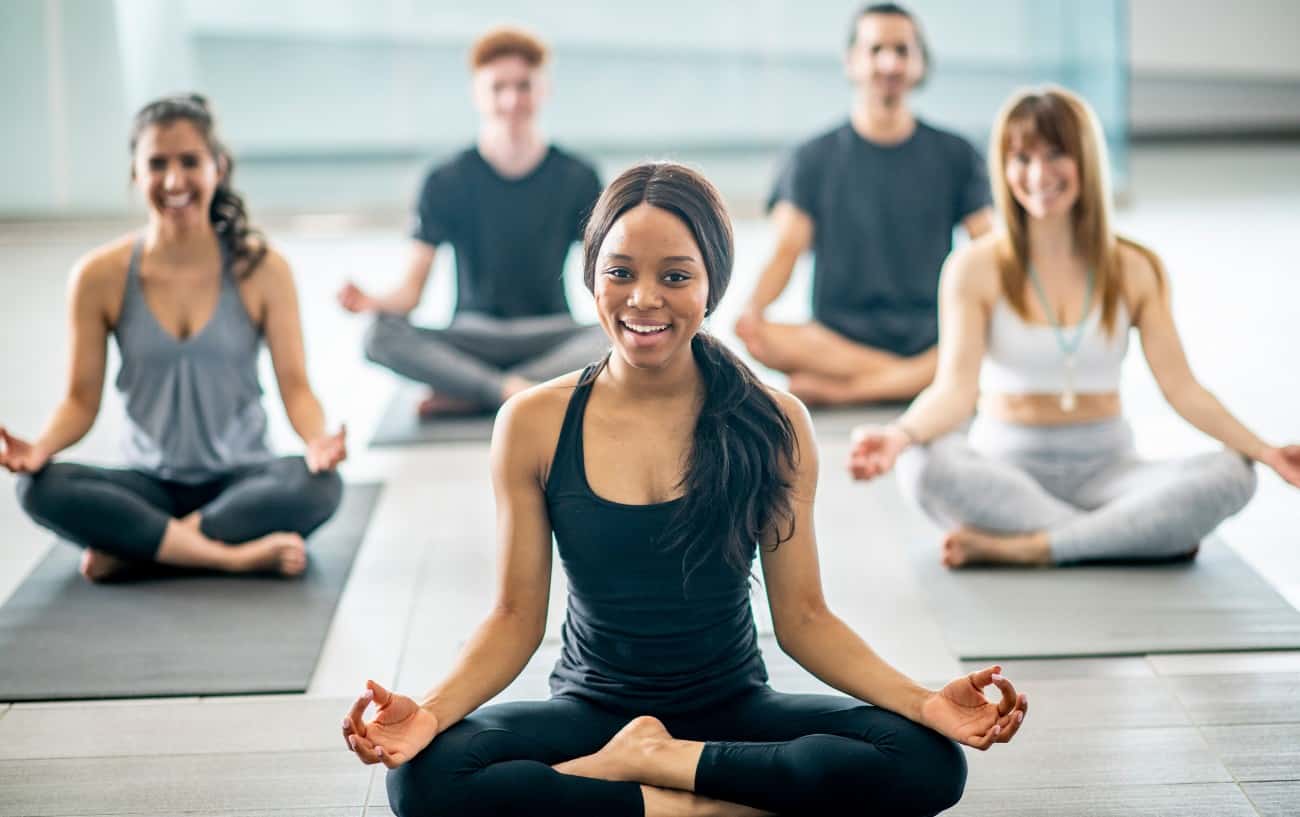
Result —
[[546, 483], [569, 584], [551, 693], [677, 714], [764, 684], [748, 576], [719, 548], [692, 572], [688, 593], [681, 552], [659, 541], [681, 500], [624, 505], [592, 490], [582, 455], [590, 394], [590, 384], [575, 388]]

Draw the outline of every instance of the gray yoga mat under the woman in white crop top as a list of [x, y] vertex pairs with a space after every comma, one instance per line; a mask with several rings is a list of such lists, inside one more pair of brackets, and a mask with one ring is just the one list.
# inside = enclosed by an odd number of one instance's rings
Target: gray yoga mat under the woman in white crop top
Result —
[[961, 658], [1300, 648], [1300, 611], [1217, 536], [1175, 565], [948, 570], [937, 539], [910, 550]]

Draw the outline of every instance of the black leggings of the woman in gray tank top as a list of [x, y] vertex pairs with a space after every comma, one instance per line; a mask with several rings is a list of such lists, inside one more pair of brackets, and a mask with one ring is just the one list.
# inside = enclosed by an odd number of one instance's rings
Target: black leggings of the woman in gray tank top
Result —
[[204, 536], [238, 544], [277, 531], [307, 536], [343, 496], [334, 471], [309, 474], [283, 457], [190, 485], [139, 471], [56, 462], [18, 480], [18, 502], [39, 524], [83, 548], [152, 562], [168, 522], [202, 515]]

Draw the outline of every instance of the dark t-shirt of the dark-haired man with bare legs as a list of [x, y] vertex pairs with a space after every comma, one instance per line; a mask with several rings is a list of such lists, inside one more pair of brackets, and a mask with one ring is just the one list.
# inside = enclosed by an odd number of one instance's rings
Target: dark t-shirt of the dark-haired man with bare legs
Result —
[[812, 316], [858, 342], [914, 355], [939, 340], [939, 271], [953, 228], [989, 204], [971, 144], [924, 122], [900, 144], [850, 124], [800, 146], [768, 207], [812, 219]]

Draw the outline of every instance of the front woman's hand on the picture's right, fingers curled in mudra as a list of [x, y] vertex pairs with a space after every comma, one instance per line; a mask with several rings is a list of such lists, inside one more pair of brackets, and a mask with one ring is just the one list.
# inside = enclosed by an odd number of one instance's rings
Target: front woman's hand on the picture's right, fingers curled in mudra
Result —
[[[920, 722], [958, 743], [984, 751], [994, 743], [1006, 743], [1019, 731], [1030, 701], [1017, 695], [1011, 682], [1002, 678], [1002, 667], [991, 666], [958, 678], [922, 704]], [[993, 704], [984, 697], [984, 687], [996, 686], [1002, 699]]]

